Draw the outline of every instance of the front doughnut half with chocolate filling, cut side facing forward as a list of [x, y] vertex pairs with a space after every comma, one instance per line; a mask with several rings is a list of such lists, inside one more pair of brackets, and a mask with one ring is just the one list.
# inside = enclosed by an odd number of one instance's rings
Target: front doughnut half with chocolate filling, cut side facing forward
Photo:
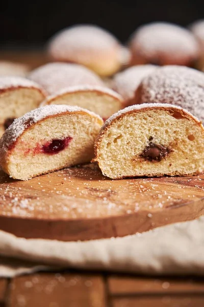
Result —
[[112, 179], [198, 174], [204, 170], [204, 128], [181, 107], [133, 105], [105, 122], [94, 161]]

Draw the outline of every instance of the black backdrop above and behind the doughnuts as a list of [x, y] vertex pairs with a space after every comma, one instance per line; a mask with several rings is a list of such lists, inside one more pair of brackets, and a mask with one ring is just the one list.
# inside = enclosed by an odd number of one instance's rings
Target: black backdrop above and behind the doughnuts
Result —
[[80, 23], [99, 25], [125, 42], [144, 23], [187, 26], [200, 18], [204, 0], [2, 0], [0, 43], [2, 48], [40, 47], [58, 30]]

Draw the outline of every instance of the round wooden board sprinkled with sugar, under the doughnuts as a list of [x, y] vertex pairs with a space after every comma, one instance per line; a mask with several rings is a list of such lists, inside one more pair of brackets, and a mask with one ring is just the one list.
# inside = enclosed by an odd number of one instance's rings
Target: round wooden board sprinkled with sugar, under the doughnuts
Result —
[[93, 165], [29, 181], [0, 172], [0, 229], [64, 241], [124, 236], [204, 214], [204, 175], [111, 180]]

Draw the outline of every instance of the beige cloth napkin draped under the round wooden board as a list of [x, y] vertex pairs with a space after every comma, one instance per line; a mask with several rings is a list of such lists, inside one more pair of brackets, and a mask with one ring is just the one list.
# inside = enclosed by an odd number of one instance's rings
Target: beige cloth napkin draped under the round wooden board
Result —
[[204, 216], [142, 234], [86, 242], [24, 239], [0, 231], [0, 254], [3, 256], [0, 276], [7, 277], [49, 269], [42, 265], [201, 275], [204, 274]]

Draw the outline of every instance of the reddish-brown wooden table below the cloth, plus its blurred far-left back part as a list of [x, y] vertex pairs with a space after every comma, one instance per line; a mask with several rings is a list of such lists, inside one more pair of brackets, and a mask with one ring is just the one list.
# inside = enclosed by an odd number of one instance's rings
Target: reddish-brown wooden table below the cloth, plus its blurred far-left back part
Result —
[[[0, 60], [31, 68], [47, 62], [40, 52], [1, 52]], [[203, 307], [204, 277], [142, 277], [63, 271], [0, 279], [0, 307]]]

